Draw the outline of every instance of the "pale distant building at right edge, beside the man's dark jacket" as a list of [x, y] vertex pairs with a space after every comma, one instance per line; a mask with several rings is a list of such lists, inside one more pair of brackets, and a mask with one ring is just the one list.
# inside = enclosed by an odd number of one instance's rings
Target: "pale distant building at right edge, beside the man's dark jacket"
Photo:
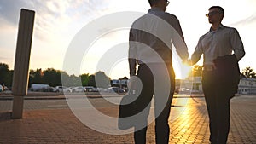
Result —
[[238, 89], [238, 94], [252, 95], [256, 94], [256, 79], [255, 78], [241, 78]]

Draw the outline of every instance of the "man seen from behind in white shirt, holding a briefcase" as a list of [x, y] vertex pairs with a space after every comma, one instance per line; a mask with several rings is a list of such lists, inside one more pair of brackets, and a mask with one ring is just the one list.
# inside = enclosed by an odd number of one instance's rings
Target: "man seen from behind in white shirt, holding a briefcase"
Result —
[[[151, 9], [148, 10], [148, 14], [140, 17], [131, 26], [129, 38], [131, 81], [132, 77], [137, 77], [143, 84], [137, 98], [137, 107], [134, 107], [143, 112], [135, 125], [136, 144], [146, 143], [147, 119], [153, 95], [156, 143], [168, 143], [170, 133], [168, 118], [175, 89], [172, 44], [182, 60], [187, 60], [189, 56], [177, 17], [165, 12], [168, 3], [167, 0], [149, 0]], [[138, 70], [136, 70], [137, 64]]]

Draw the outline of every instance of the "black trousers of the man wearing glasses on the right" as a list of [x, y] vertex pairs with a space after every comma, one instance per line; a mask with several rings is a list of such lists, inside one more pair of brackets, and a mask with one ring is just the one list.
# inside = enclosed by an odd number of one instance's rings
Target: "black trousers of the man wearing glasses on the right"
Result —
[[210, 141], [225, 144], [230, 131], [230, 95], [215, 71], [202, 73], [202, 88], [210, 120]]

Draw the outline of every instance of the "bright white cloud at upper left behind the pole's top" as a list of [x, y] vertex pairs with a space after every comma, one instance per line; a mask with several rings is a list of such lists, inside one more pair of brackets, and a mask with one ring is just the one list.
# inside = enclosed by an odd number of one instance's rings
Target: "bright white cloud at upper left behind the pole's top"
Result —
[[58, 33], [68, 31], [71, 25], [78, 25], [75, 22], [93, 20], [102, 12], [108, 11], [109, 2], [109, 0], [2, 0], [0, 20], [17, 27], [21, 8], [35, 10], [36, 37], [50, 38], [51, 35], [55, 37]]

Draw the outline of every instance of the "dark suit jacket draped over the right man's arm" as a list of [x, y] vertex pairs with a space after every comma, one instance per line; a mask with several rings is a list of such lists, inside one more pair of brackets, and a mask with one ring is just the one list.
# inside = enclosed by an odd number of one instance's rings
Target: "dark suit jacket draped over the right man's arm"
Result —
[[236, 55], [224, 55], [213, 60], [216, 66], [221, 94], [235, 96], [240, 81], [240, 69]]

